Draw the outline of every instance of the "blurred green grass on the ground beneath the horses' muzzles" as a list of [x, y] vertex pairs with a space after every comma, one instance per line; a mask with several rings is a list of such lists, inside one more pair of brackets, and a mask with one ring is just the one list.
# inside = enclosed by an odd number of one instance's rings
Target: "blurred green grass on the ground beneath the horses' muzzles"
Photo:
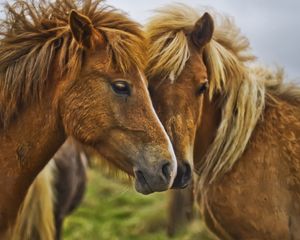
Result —
[[[143, 196], [132, 186], [89, 170], [85, 199], [64, 224], [66, 240], [164, 240], [166, 193]], [[197, 218], [175, 240], [210, 240]]]

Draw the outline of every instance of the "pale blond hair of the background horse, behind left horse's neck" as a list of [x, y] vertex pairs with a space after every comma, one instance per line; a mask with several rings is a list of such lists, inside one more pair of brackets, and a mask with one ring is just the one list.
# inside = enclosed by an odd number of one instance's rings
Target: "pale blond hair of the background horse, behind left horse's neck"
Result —
[[54, 180], [56, 166], [50, 161], [31, 184], [19, 210], [11, 240], [53, 240], [55, 238]]

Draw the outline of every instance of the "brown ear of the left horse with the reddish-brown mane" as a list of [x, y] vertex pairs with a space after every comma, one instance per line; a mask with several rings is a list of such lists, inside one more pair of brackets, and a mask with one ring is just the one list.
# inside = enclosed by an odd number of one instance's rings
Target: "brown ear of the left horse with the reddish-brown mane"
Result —
[[93, 35], [95, 35], [96, 31], [94, 30], [92, 21], [88, 17], [72, 10], [69, 17], [69, 25], [73, 37], [80, 45], [88, 49], [94, 46], [95, 39], [93, 38], [96, 36]]

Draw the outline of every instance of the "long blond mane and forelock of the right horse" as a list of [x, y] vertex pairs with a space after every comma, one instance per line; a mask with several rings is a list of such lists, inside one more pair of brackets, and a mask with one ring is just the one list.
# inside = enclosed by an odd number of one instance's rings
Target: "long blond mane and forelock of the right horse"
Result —
[[[176, 81], [191, 54], [187, 33], [206, 11], [196, 12], [181, 4], [157, 11], [146, 26], [150, 46], [146, 69], [149, 81], [154, 77]], [[210, 99], [215, 94], [222, 96], [222, 119], [206, 156], [195, 164], [201, 186], [229, 171], [244, 152], [263, 113], [267, 91], [291, 95], [283, 89], [280, 73], [271, 74], [263, 68], [249, 66], [248, 62], [255, 57], [233, 20], [209, 12], [215, 19], [215, 32], [203, 56], [209, 75]], [[299, 98], [299, 90], [294, 95]]]

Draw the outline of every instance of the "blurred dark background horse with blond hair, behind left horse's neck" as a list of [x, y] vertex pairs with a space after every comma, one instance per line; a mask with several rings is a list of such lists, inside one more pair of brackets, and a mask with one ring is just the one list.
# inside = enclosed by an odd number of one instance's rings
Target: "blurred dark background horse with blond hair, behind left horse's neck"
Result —
[[81, 203], [86, 170], [95, 153], [69, 138], [31, 184], [12, 240], [59, 240], [64, 218]]

